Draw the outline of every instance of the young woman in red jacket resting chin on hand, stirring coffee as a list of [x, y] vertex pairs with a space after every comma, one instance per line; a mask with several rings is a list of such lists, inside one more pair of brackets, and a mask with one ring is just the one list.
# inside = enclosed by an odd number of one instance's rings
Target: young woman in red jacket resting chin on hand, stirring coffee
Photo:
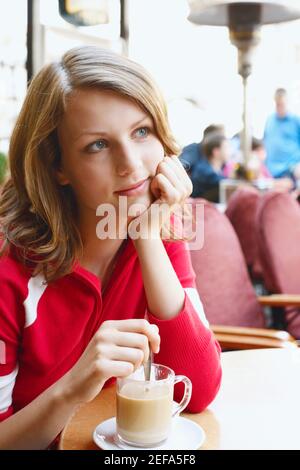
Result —
[[[33, 79], [0, 203], [1, 448], [47, 447], [78, 405], [143, 363], [148, 344], [192, 380], [191, 412], [215, 397], [220, 350], [186, 243], [161, 236], [192, 190], [176, 154], [138, 64], [79, 47]], [[105, 237], [109, 209], [118, 235]]]

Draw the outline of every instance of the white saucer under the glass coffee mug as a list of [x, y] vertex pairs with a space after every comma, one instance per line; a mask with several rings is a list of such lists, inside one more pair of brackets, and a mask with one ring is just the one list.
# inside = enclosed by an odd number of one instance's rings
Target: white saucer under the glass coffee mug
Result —
[[205, 432], [194, 421], [182, 418], [175, 418], [172, 434], [159, 447], [131, 447], [118, 442], [116, 437], [116, 418], [111, 418], [98, 424], [93, 433], [94, 442], [100, 449], [104, 450], [196, 450], [205, 440]]

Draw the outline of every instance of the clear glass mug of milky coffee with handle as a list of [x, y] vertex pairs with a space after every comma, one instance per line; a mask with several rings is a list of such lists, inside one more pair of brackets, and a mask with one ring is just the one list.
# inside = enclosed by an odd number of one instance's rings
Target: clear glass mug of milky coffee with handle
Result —
[[[175, 403], [174, 385], [179, 382], [184, 383], [184, 395], [180, 403]], [[149, 381], [145, 381], [143, 367], [118, 378], [116, 422], [120, 444], [161, 445], [171, 433], [172, 419], [186, 408], [191, 395], [190, 379], [160, 364], [152, 364]]]

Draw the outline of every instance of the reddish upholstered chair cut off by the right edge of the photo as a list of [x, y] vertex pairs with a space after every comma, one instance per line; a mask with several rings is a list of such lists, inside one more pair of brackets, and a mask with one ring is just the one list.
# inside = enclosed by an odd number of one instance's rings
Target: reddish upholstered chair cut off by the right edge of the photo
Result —
[[[260, 199], [258, 244], [266, 288], [286, 294], [287, 329], [300, 338], [300, 208], [290, 194], [272, 192]], [[271, 298], [274, 307], [283, 306], [282, 296]]]

